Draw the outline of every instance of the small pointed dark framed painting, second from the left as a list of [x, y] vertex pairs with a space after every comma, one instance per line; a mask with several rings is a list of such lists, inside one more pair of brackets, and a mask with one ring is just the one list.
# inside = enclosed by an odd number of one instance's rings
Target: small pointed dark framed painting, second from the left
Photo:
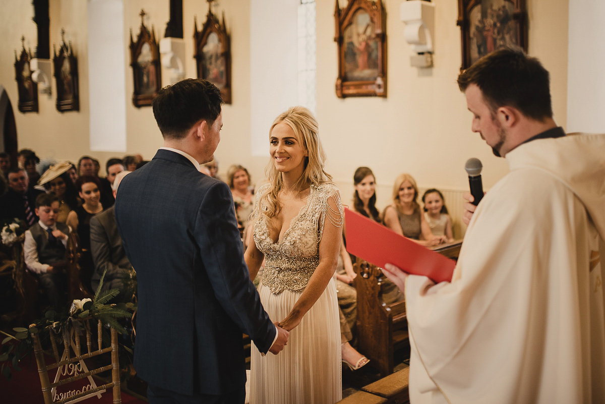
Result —
[[65, 43], [65, 31], [61, 30], [59, 53], [54, 49], [54, 78], [57, 82], [57, 111], [79, 111], [80, 95], [78, 89], [77, 58], [73, 48]]

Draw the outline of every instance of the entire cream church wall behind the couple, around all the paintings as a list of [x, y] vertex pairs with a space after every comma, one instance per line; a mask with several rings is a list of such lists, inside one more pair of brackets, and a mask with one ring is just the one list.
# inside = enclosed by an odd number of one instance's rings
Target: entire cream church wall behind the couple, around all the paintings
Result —
[[[36, 41], [31, 22], [33, 8], [29, 2], [2, 0], [0, 11], [0, 83], [8, 90], [11, 102], [17, 103], [14, 51], [21, 47], [25, 34], [30, 44]], [[334, 0], [317, 0], [317, 116], [322, 141], [328, 155], [327, 171], [341, 187], [343, 199], [352, 194], [355, 168], [370, 166], [379, 184], [378, 206], [388, 203], [394, 177], [410, 172], [420, 187], [466, 189], [463, 165], [468, 157], [478, 157], [485, 166], [483, 181], [491, 187], [508, 171], [505, 161], [495, 158], [489, 148], [470, 131], [471, 116], [466, 111], [463, 94], [456, 85], [460, 68], [460, 29], [456, 26], [457, 4], [453, 0], [434, 0], [436, 32], [434, 67], [418, 70], [410, 67], [410, 45], [404, 41], [404, 24], [399, 21], [401, 0], [385, 0], [387, 11], [388, 97], [338, 99], [335, 95], [336, 44], [334, 37]], [[139, 32], [139, 11], [145, 8], [145, 24], [154, 25], [156, 37], [163, 36], [168, 21], [168, 1], [128, 0], [124, 5], [124, 52], [127, 64], [129, 30]], [[4, 11], [10, 10], [10, 12]], [[206, 19], [208, 5], [198, 0], [183, 1], [186, 76], [195, 77], [193, 19], [198, 28]], [[253, 180], [264, 177], [267, 158], [253, 157], [250, 145], [250, 8], [246, 0], [221, 0], [218, 15], [225, 12], [231, 34], [233, 103], [223, 107], [224, 129], [216, 157], [220, 172], [229, 165], [246, 166]], [[529, 53], [540, 58], [551, 71], [551, 88], [555, 119], [566, 125], [567, 95], [567, 0], [532, 0], [528, 2]], [[38, 114], [15, 112], [19, 148], [33, 148], [41, 157], [77, 160], [92, 154], [103, 163], [113, 153], [90, 153], [88, 142], [88, 68], [87, 8], [81, 0], [51, 2], [51, 44], [59, 42], [59, 31], [68, 32], [79, 57], [80, 112], [61, 114], [54, 108], [54, 98], [40, 97]], [[270, 21], [267, 21], [270, 24]], [[276, 33], [278, 34], [278, 33]], [[267, 44], [270, 46], [270, 44]], [[294, 46], [294, 45], [293, 45]], [[275, 50], [279, 52], [279, 49]], [[132, 70], [126, 71], [127, 153], [141, 153], [149, 159], [162, 145], [150, 107], [132, 105]], [[163, 80], [168, 74], [163, 70]], [[54, 94], [53, 79], [53, 94]], [[271, 97], [267, 89], [266, 97]], [[263, 100], [253, 100], [262, 103]], [[111, 117], [108, 117], [111, 119]], [[269, 128], [270, 122], [267, 122]]]

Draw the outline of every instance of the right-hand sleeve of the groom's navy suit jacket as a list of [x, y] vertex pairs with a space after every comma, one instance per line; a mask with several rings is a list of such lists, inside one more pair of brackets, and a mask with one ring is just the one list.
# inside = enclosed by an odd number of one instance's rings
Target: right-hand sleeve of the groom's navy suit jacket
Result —
[[195, 239], [221, 306], [258, 350], [266, 353], [273, 344], [276, 328], [250, 281], [227, 184], [216, 183], [204, 195], [196, 218]]

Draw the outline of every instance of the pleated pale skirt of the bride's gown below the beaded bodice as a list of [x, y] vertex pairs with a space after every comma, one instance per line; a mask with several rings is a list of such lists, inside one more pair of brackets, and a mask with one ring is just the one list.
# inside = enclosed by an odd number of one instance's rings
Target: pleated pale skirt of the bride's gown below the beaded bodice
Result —
[[[281, 321], [302, 292], [273, 295], [262, 282], [261, 302], [271, 321]], [[341, 335], [333, 279], [301, 323], [290, 332], [283, 351], [261, 356], [252, 345], [250, 404], [333, 404], [342, 399]]]

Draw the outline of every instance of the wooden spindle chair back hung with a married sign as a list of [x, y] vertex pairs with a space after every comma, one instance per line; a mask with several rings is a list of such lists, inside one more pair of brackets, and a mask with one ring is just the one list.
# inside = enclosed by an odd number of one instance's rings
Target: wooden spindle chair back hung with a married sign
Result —
[[[97, 322], [97, 349], [93, 350], [93, 333], [91, 332], [90, 324], [94, 319], [86, 318], [82, 319], [83, 336], [85, 337], [86, 353], [83, 353], [83, 346], [80, 341], [80, 336], [77, 334], [74, 327], [71, 327], [68, 332], [68, 338], [63, 339], [63, 353], [59, 356], [59, 349], [57, 347], [57, 337], [54, 335], [53, 330], [48, 330], [50, 334], [50, 343], [53, 349], [53, 356], [56, 363], [47, 365], [44, 359], [44, 352], [42, 351], [42, 345], [40, 342], [39, 331], [30, 325], [31, 336], [34, 342], [34, 355], [36, 356], [36, 363], [38, 364], [38, 373], [40, 376], [40, 382], [42, 385], [42, 396], [44, 396], [45, 404], [67, 404], [75, 403], [80, 400], [85, 400], [93, 396], [100, 398], [101, 393], [107, 389], [113, 388], [113, 404], [122, 403], [120, 397], [120, 362], [118, 357], [118, 344], [117, 344], [117, 331], [114, 328], [111, 330], [111, 346], [102, 348], [102, 322]], [[49, 326], [51, 327], [51, 326]], [[60, 344], [60, 342], [59, 342]], [[73, 356], [71, 355], [73, 351]], [[90, 357], [99, 356], [103, 353], [111, 352], [111, 363], [104, 367], [88, 370], [84, 359]], [[75, 365], [74, 365], [75, 363]], [[48, 377], [48, 371], [57, 369], [57, 373], [54, 382], [50, 382]], [[107, 383], [102, 386], [97, 386], [94, 382], [93, 375], [104, 371], [111, 370], [111, 383]], [[82, 373], [79, 373], [82, 372]], [[64, 374], [73, 374], [74, 376], [67, 377], [67, 379], [59, 380], [59, 377]], [[82, 391], [70, 391], [68, 393], [59, 394], [56, 392], [56, 388], [59, 386], [66, 385], [67, 383], [75, 382], [76, 380], [84, 379], [88, 377], [89, 385], [82, 388]]]

